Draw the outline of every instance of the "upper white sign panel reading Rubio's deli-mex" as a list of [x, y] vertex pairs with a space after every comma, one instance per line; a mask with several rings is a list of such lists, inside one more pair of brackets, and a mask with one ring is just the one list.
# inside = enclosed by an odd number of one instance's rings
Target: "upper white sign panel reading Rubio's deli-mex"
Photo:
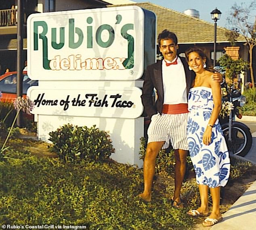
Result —
[[138, 6], [31, 14], [28, 75], [33, 80], [139, 79], [144, 20]]

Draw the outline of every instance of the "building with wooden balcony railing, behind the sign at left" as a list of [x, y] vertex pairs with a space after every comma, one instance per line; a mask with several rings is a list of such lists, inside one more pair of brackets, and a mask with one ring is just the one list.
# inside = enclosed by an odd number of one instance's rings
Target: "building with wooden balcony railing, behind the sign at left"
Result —
[[[120, 2], [120, 1], [118, 1]], [[126, 1], [126, 3], [129, 1]], [[32, 13], [106, 7], [101, 0], [23, 0], [23, 60], [27, 56], [26, 20]], [[2, 0], [0, 5], [0, 73], [17, 69], [17, 0]]]

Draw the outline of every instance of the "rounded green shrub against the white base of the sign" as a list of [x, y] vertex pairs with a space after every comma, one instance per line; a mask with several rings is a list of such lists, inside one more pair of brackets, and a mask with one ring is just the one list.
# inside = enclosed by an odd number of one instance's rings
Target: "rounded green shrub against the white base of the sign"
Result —
[[88, 128], [67, 124], [49, 135], [53, 144], [49, 146], [50, 150], [65, 162], [101, 161], [115, 152], [109, 134], [95, 125]]

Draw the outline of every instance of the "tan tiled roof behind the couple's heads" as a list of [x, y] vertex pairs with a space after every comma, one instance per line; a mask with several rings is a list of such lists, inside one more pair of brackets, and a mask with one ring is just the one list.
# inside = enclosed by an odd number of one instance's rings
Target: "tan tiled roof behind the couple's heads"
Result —
[[[157, 16], [157, 35], [164, 29], [174, 32], [178, 37], [178, 43], [213, 43], [214, 42], [214, 23], [208, 23], [199, 18], [194, 18], [186, 14], [171, 10], [150, 2], [136, 4], [109, 5], [117, 6], [139, 6], [146, 10], [153, 11]], [[209, 13], [210, 16], [210, 13]], [[217, 24], [218, 25], [218, 24]], [[227, 29], [217, 26], [218, 43], [228, 42], [225, 32]], [[244, 41], [243, 37], [240, 37]]]

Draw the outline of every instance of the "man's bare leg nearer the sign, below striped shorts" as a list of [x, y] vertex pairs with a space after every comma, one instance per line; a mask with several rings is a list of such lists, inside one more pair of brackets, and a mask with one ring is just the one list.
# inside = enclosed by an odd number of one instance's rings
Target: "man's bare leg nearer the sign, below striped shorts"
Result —
[[155, 158], [164, 142], [150, 142], [147, 144], [146, 155], [143, 163], [144, 191], [138, 196], [145, 201], [151, 201], [151, 190], [155, 174]]

